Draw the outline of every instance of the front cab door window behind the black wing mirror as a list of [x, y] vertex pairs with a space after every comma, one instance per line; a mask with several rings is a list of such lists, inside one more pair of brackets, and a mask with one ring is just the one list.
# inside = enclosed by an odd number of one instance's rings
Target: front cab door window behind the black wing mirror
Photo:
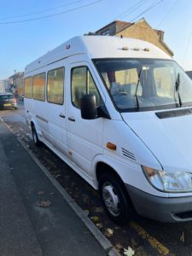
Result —
[[96, 84], [87, 67], [74, 67], [72, 69], [72, 102], [76, 108], [80, 108], [81, 97], [85, 94], [96, 96], [96, 107], [100, 106], [100, 95]]

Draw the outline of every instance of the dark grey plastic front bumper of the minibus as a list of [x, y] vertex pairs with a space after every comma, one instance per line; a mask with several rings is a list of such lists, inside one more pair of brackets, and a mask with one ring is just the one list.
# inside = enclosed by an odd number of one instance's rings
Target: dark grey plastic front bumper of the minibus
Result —
[[138, 214], [161, 222], [192, 221], [192, 196], [159, 197], [125, 186]]

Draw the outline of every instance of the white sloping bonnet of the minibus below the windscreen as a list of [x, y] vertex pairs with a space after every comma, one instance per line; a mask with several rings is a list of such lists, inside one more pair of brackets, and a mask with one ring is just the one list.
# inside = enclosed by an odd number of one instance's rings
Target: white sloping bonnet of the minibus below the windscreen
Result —
[[122, 116], [158, 157], [164, 170], [192, 173], [191, 115], [168, 119], [159, 119], [154, 112], [122, 113]]

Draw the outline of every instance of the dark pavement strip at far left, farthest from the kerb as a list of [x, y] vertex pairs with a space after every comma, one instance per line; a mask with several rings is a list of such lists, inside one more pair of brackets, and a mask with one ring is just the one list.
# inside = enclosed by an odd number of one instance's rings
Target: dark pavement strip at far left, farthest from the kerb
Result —
[[[0, 126], [1, 141], [5, 141]], [[43, 255], [0, 143], [0, 255]]]

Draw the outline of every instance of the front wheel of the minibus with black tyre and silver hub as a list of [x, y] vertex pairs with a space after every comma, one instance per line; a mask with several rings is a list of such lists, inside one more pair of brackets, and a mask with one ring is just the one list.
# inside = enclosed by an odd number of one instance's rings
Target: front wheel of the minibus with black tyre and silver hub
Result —
[[116, 224], [127, 224], [133, 216], [133, 207], [119, 178], [103, 173], [99, 180], [102, 204]]

